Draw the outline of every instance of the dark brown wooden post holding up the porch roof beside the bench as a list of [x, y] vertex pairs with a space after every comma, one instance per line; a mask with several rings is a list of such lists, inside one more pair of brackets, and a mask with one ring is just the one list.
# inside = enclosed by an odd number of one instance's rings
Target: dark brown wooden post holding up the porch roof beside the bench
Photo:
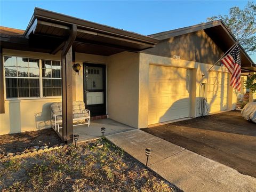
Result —
[[62, 139], [73, 142], [73, 98], [72, 98], [72, 44], [76, 38], [76, 26], [73, 25], [68, 40], [61, 52], [62, 75]]

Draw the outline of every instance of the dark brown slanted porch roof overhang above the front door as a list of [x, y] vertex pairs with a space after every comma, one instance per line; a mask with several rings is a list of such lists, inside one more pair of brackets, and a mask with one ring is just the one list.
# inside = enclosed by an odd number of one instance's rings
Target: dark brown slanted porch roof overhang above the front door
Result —
[[[24, 39], [33, 40], [30, 41], [30, 44], [35, 47], [40, 43], [45, 47], [45, 52], [55, 54], [62, 49], [73, 25], [77, 26], [77, 35], [73, 43], [75, 52], [99, 55], [111, 55], [122, 51], [139, 52], [154, 47], [159, 42], [158, 39], [153, 37], [100, 25], [37, 7], [23, 37]], [[45, 42], [51, 42], [51, 46], [49, 44], [45, 45]]]

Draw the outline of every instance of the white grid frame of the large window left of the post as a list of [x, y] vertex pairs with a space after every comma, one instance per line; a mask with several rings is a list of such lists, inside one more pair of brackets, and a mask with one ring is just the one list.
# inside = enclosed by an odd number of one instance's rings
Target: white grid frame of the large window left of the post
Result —
[[[21, 56], [21, 55], [9, 55], [9, 54], [3, 54], [3, 61], [4, 61], [4, 57], [16, 57], [16, 58], [28, 58], [28, 59], [38, 59], [39, 61], [39, 77], [18, 77], [18, 69], [17, 69], [17, 77], [7, 77], [7, 78], [35, 78], [38, 79], [39, 78], [39, 97], [17, 97], [17, 98], [7, 98], [6, 95], [6, 77], [5, 77], [5, 62], [3, 63], [3, 72], [4, 72], [4, 99], [5, 100], [31, 100], [31, 99], [58, 99], [58, 98], [62, 98], [62, 95], [57, 95], [57, 96], [43, 96], [43, 78], [42, 77], [42, 60], [50, 60], [50, 61], [60, 61], [58, 59], [44, 59], [44, 58], [35, 58], [35, 57], [27, 57], [27, 56]], [[61, 65], [61, 61], [60, 61], [60, 65]], [[46, 78], [46, 77], [45, 77]], [[51, 79], [62, 79], [61, 78], [51, 78]], [[18, 82], [17, 82], [18, 83]], [[19, 89], [19, 88], [18, 88]], [[62, 90], [62, 87], [61, 87]]]

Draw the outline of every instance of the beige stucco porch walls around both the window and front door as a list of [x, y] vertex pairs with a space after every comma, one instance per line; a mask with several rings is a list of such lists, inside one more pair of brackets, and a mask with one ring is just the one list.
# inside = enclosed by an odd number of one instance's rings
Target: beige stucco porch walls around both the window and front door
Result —
[[[60, 53], [3, 50], [4, 55], [60, 60]], [[75, 98], [83, 101], [83, 63], [106, 65], [107, 114], [118, 122], [138, 127], [139, 53], [123, 52], [110, 57], [76, 53], [75, 62], [82, 67], [73, 73]], [[5, 97], [6, 98], [6, 97]], [[126, 98], [126, 99], [125, 99]], [[5, 113], [0, 114], [0, 135], [36, 131], [50, 127], [50, 105], [58, 98], [5, 99]]]

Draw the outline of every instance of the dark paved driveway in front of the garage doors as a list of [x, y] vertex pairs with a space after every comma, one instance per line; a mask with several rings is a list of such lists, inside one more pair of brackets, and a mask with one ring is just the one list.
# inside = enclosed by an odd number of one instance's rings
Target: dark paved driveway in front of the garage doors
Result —
[[256, 124], [240, 111], [142, 130], [256, 178]]

